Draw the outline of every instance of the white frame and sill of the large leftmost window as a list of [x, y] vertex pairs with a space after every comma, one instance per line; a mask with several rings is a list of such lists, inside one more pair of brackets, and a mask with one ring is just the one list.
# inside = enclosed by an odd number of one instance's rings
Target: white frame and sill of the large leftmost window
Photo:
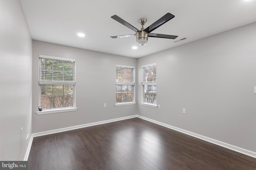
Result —
[[[39, 59], [40, 58], [48, 58], [48, 59], [57, 59], [57, 60], [65, 60], [65, 61], [74, 61], [76, 62], [76, 59], [68, 59], [68, 58], [62, 58], [62, 57], [53, 57], [53, 56], [46, 56], [46, 55], [38, 55], [38, 70], [39, 68]], [[39, 71], [38, 71], [39, 72]], [[76, 64], [75, 64], [75, 72], [76, 72]], [[40, 72], [39, 72], [40, 73]], [[76, 74], [75, 74], [76, 76]], [[39, 81], [38, 79], [38, 106], [41, 106], [41, 85], [42, 84], [58, 84], [56, 81]], [[62, 108], [53, 108], [53, 109], [44, 109], [42, 111], [36, 111], [37, 115], [42, 114], [50, 114], [50, 113], [60, 113], [60, 112], [67, 112], [67, 111], [76, 111], [78, 108], [76, 107], [76, 82], [61, 82], [62, 84], [73, 84], [73, 106], [72, 107], [62, 107]]]

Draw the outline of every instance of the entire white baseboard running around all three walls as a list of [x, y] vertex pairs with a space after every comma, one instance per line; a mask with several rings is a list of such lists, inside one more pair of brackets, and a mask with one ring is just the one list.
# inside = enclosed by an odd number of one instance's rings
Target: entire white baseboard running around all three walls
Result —
[[33, 133], [30, 137], [30, 141], [28, 143], [28, 148], [26, 150], [26, 154], [24, 156], [24, 161], [27, 161], [28, 160], [28, 156], [29, 156], [29, 153], [30, 153], [30, 149], [31, 149], [31, 146], [32, 146], [32, 142], [33, 142], [33, 139], [34, 137], [39, 137], [39, 136], [43, 136], [43, 135], [50, 135], [50, 134], [54, 134], [54, 133], [59, 133], [59, 132], [64, 132], [64, 131], [70, 131], [70, 130], [74, 130], [74, 129], [80, 129], [80, 128], [84, 128], [84, 127], [89, 127], [89, 126], [94, 126], [94, 125], [100, 125], [100, 124], [104, 124], [104, 123], [110, 123], [110, 122], [114, 122], [114, 121], [120, 121], [120, 120], [125, 120], [125, 119], [131, 119], [131, 118], [134, 118], [134, 117], [138, 117], [140, 119], [144, 119], [146, 121], [150, 121], [152, 123], [156, 123], [158, 125], [161, 125], [161, 126], [164, 126], [164, 127], [167, 127], [169, 129], [172, 129], [172, 130], [175, 130], [175, 131], [178, 131], [178, 132], [181, 132], [181, 133], [184, 133], [186, 135], [190, 135], [192, 137], [196, 137], [198, 139], [202, 139], [203, 141], [207, 141], [207, 142], [210, 142], [210, 143], [213, 143], [215, 145], [219, 145], [221, 147], [224, 147], [224, 148], [227, 148], [227, 149], [230, 149], [230, 150], [234, 150], [236, 152], [239, 152], [239, 153], [242, 153], [242, 154], [245, 154], [247, 156], [251, 156], [253, 158], [256, 158], [256, 152], [253, 152], [251, 150], [247, 150], [247, 149], [243, 149], [243, 148], [240, 148], [240, 147], [236, 147], [234, 145], [230, 145], [228, 143], [224, 143], [222, 141], [217, 141], [215, 139], [212, 139], [212, 138], [209, 138], [209, 137], [205, 137], [205, 136], [202, 136], [202, 135], [199, 135], [199, 134], [196, 134], [196, 133], [193, 133], [193, 132], [190, 132], [190, 131], [186, 131], [184, 129], [180, 129], [178, 127], [174, 127], [172, 125], [168, 125], [168, 124], [165, 124], [165, 123], [162, 123], [162, 122], [159, 122], [159, 121], [155, 121], [153, 119], [149, 119], [147, 117], [143, 117], [143, 116], [140, 116], [140, 115], [132, 115], [132, 116], [127, 116], [127, 117], [120, 117], [120, 118], [116, 118], [116, 119], [110, 119], [110, 120], [105, 120], [105, 121], [98, 121], [98, 122], [95, 122], [95, 123], [87, 123], [87, 124], [84, 124], [84, 125], [77, 125], [77, 126], [72, 126], [72, 127], [65, 127], [65, 128], [61, 128], [61, 129], [55, 129], [55, 130], [51, 130], [51, 131], [45, 131], [45, 132], [39, 132], [39, 133]]

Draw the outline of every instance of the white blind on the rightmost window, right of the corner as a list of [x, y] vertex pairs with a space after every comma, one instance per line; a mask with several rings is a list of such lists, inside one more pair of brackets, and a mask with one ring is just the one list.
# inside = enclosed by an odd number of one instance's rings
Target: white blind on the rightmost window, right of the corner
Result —
[[156, 63], [142, 66], [142, 84], [156, 83]]

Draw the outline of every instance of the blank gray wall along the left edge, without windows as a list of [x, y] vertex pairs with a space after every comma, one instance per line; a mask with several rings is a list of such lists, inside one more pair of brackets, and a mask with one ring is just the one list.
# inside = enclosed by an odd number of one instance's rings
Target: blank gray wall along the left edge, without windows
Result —
[[19, 0], [0, 0], [0, 57], [0, 160], [23, 160], [31, 135], [32, 39]]

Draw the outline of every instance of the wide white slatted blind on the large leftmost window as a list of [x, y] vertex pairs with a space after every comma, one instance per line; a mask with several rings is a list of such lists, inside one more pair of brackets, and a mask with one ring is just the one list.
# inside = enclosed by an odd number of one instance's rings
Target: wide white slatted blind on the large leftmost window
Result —
[[39, 55], [39, 84], [76, 84], [75, 59]]

